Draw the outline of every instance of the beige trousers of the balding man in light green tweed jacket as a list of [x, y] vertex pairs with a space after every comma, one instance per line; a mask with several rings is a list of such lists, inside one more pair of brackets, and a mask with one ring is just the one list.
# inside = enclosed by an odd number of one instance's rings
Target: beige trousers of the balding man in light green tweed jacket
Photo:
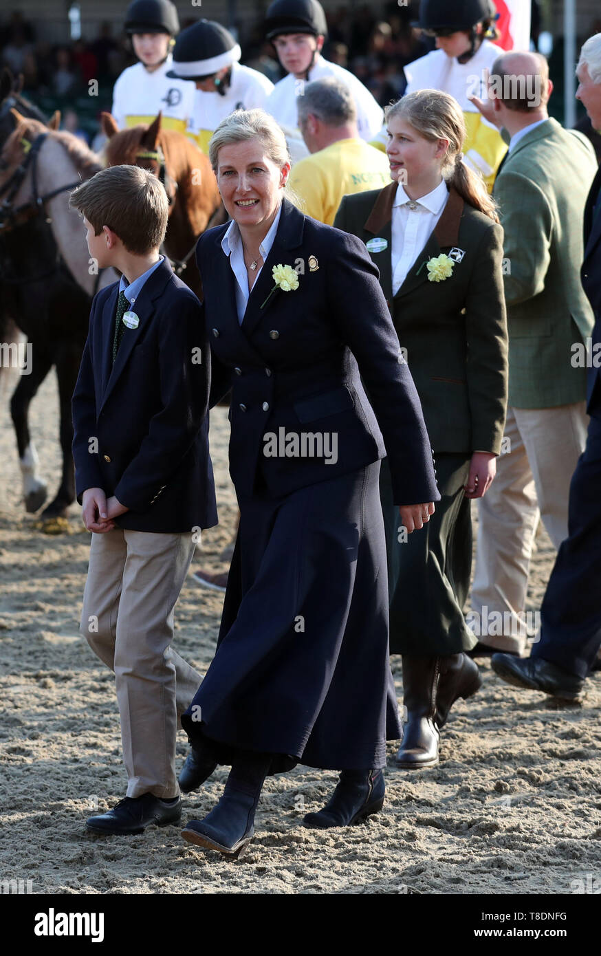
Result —
[[556, 549], [568, 536], [569, 483], [588, 423], [585, 402], [507, 409], [508, 453], [497, 459], [497, 476], [478, 502], [471, 599], [485, 632], [480, 640], [491, 647], [524, 655], [539, 625], [538, 614], [525, 613], [534, 535], [540, 517]]

